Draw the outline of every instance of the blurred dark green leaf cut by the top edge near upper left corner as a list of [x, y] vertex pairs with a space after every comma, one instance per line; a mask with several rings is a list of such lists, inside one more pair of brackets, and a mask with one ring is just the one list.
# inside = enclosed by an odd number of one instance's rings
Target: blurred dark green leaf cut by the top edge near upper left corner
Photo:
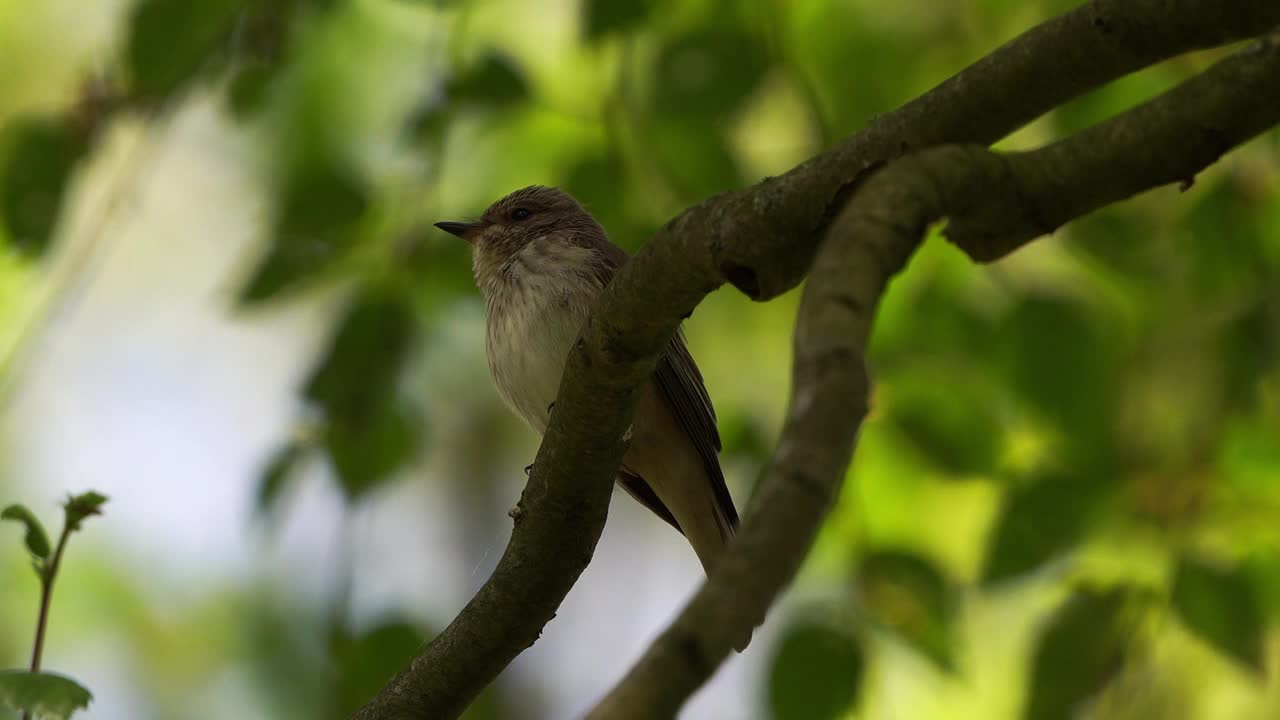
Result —
[[133, 94], [163, 100], [191, 79], [230, 33], [244, 0], [142, 0], [125, 47]]

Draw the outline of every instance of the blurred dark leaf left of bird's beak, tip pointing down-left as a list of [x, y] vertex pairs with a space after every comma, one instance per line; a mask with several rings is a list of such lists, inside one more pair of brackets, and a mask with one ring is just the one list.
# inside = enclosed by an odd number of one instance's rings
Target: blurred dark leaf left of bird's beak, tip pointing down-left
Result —
[[369, 202], [365, 184], [335, 164], [294, 173], [280, 199], [271, 247], [241, 301], [266, 300], [329, 268], [355, 245]]

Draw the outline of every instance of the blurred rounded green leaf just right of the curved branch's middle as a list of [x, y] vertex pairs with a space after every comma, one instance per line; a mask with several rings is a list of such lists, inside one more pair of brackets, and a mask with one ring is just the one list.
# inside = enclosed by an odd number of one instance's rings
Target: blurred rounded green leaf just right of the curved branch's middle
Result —
[[901, 383], [891, 396], [890, 418], [940, 469], [952, 475], [991, 473], [1004, 428], [989, 398], [960, 383]]

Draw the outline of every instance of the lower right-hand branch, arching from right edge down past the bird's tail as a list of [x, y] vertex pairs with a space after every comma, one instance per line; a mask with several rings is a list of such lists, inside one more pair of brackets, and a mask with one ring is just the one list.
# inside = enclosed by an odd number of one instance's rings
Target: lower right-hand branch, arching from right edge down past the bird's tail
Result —
[[[742, 534], [590, 717], [673, 717], [799, 569], [867, 411], [864, 397], [849, 392], [851, 377], [863, 375], [876, 302], [929, 224], [950, 217], [948, 233], [966, 247], [1011, 249], [1101, 205], [1194, 176], [1280, 122], [1277, 97], [1280, 33], [1042, 150], [940, 146], [872, 176], [818, 252], [796, 327], [791, 415]], [[814, 454], [822, 462], [809, 460]]]

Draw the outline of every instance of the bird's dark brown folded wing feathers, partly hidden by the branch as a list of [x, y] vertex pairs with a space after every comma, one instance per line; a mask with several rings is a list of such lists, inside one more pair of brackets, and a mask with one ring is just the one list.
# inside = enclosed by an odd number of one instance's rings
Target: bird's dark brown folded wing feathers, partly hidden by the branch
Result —
[[[607, 240], [598, 247], [604, 260], [598, 269], [598, 279], [604, 286], [613, 279], [617, 269], [625, 265], [631, 256], [627, 255], [626, 250]], [[658, 359], [658, 366], [654, 368], [653, 378], [680, 427], [684, 428], [689, 439], [694, 443], [694, 448], [698, 451], [698, 456], [707, 469], [707, 478], [712, 483], [716, 505], [723, 515], [728, 530], [732, 532], [737, 528], [737, 510], [733, 507], [733, 497], [724, 484], [724, 473], [719, 466], [721, 438], [719, 432], [716, 429], [716, 409], [712, 406], [710, 396], [707, 395], [703, 374], [698, 370], [698, 364], [694, 363], [694, 356], [689, 354], [689, 347], [685, 345], [684, 331], [676, 329], [676, 336], [671, 338], [667, 351]], [[644, 483], [639, 477], [636, 479]], [[623, 483], [623, 487], [627, 487], [626, 483]], [[645, 489], [649, 491], [653, 501], [658, 501], [657, 495], [650, 488], [646, 487]], [[632, 488], [627, 487], [627, 492], [649, 506], [659, 518], [667, 519], [666, 516], [671, 515], [671, 511], [666, 507], [662, 509], [663, 512], [655, 510], [648, 500], [643, 498]], [[658, 501], [658, 505], [660, 506], [662, 502]]]

